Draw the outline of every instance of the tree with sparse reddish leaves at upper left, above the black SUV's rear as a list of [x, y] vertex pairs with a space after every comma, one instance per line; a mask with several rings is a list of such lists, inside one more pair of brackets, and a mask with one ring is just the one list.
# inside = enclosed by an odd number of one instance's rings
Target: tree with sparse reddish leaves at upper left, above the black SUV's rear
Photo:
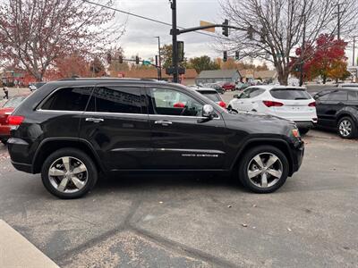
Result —
[[98, 54], [114, 45], [124, 32], [123, 25], [114, 27], [114, 18], [108, 9], [81, 0], [1, 0], [0, 59], [42, 80], [66, 54]]

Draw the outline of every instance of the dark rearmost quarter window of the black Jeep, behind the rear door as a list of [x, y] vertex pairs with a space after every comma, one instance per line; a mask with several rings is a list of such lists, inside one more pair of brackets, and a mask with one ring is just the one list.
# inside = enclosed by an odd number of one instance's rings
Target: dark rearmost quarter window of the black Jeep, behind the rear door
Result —
[[61, 88], [41, 106], [42, 110], [84, 111], [92, 88]]

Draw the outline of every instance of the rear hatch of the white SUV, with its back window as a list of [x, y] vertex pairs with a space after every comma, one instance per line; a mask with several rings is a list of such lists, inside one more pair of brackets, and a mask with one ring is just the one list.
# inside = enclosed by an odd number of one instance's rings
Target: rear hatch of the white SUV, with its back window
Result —
[[316, 107], [311, 95], [303, 88], [273, 88], [270, 91], [274, 101], [282, 103], [275, 106], [275, 114], [292, 121], [312, 121], [317, 118]]

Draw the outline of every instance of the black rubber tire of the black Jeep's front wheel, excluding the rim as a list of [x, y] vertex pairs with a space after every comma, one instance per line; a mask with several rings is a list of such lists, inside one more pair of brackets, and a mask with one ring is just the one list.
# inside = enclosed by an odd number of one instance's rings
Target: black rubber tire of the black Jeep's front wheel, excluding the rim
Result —
[[[256, 156], [262, 153], [268, 153], [272, 155], [276, 155], [277, 158], [282, 163], [282, 175], [279, 180], [275, 184], [270, 187], [262, 188], [255, 185], [248, 176], [248, 168], [251, 160]], [[277, 147], [272, 146], [260, 146], [260, 147], [253, 147], [249, 151], [247, 151], [243, 158], [241, 159], [241, 163], [239, 164], [239, 180], [246, 188], [249, 188], [252, 192], [259, 193], [259, 194], [266, 194], [276, 191], [280, 188], [287, 180], [289, 172], [289, 163], [287, 160], [286, 155]]]

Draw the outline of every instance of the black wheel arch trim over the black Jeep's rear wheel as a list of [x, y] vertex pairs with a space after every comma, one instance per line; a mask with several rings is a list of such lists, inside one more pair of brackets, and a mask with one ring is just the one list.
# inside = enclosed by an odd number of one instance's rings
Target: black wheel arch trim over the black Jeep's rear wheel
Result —
[[32, 160], [33, 173], [41, 172], [42, 164], [48, 155], [65, 147], [76, 148], [86, 153], [96, 164], [98, 171], [106, 172], [106, 169], [99, 160], [98, 154], [87, 140], [81, 138], [45, 138], [38, 146]]

